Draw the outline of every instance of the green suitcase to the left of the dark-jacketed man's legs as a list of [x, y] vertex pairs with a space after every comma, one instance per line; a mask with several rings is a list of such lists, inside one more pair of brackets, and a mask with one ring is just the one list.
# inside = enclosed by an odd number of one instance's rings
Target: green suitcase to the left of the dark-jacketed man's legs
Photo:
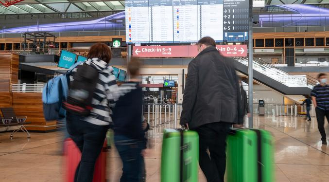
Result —
[[164, 129], [161, 182], [198, 182], [198, 170], [199, 136], [197, 132]]

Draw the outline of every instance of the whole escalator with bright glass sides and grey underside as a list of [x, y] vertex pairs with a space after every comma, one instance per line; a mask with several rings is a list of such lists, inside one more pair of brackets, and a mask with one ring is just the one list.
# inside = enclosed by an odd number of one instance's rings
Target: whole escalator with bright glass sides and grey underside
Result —
[[[248, 75], [248, 59], [234, 58], [237, 71]], [[253, 60], [253, 79], [284, 95], [310, 94], [316, 79], [308, 75], [286, 73], [260, 59]]]

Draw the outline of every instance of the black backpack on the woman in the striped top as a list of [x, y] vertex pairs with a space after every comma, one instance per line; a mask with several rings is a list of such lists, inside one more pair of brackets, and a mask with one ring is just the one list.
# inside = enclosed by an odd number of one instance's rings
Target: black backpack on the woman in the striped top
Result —
[[63, 102], [63, 108], [68, 112], [88, 116], [92, 109], [92, 98], [96, 90], [98, 71], [84, 63], [77, 66], [70, 83], [68, 98]]

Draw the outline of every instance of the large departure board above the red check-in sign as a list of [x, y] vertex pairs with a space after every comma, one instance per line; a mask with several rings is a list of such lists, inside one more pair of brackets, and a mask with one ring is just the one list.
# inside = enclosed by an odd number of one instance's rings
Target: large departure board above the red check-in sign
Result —
[[125, 0], [127, 43], [248, 39], [248, 0]]

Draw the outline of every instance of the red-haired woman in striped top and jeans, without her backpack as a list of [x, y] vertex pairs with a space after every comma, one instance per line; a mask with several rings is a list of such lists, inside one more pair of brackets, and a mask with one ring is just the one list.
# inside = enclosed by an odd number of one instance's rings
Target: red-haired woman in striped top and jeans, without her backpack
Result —
[[[76, 169], [74, 182], [92, 182], [96, 160], [101, 153], [107, 129], [112, 122], [110, 113], [118, 96], [118, 89], [113, 69], [108, 65], [111, 50], [104, 43], [91, 46], [87, 55], [87, 64], [99, 73], [97, 87], [92, 99], [92, 109], [87, 117], [71, 112], [67, 113], [67, 129], [70, 138], [80, 149], [82, 156]], [[73, 82], [73, 75], [70, 75]]]

